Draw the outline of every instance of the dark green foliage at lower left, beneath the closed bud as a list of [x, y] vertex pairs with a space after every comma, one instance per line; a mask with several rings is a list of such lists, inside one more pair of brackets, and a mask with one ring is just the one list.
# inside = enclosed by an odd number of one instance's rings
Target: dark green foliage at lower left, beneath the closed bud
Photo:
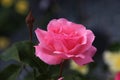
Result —
[[58, 67], [40, 61], [33, 46], [31, 42], [23, 41], [0, 54], [0, 80], [49, 80], [51, 76], [57, 76]]

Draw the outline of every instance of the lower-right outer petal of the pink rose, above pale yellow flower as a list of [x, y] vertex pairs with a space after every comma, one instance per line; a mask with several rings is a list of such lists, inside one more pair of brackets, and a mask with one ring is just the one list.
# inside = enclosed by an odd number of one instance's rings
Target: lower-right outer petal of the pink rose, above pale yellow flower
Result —
[[93, 62], [93, 55], [96, 52], [96, 48], [95, 47], [91, 47], [89, 50], [87, 50], [85, 53], [83, 54], [79, 54], [76, 55], [76, 57], [72, 58], [78, 65], [84, 65], [87, 64], [89, 62]]

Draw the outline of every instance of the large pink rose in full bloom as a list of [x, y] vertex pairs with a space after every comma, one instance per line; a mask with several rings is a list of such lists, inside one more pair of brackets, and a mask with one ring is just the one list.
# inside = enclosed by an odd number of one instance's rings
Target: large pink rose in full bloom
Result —
[[35, 55], [50, 65], [60, 64], [72, 59], [78, 65], [93, 62], [96, 48], [92, 45], [94, 34], [81, 24], [64, 18], [53, 19], [47, 31], [35, 30], [39, 44], [35, 46]]

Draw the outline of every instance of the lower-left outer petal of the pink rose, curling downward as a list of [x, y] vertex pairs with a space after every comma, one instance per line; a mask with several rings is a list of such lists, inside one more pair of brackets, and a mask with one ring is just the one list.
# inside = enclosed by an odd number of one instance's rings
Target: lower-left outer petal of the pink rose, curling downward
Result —
[[61, 55], [53, 54], [51, 51], [41, 47], [35, 46], [36, 56], [49, 65], [56, 65], [62, 62]]

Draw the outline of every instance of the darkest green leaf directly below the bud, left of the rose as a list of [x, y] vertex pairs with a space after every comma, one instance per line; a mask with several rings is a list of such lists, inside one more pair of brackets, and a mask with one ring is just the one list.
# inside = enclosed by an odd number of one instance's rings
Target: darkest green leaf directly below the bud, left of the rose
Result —
[[29, 41], [22, 41], [15, 44], [15, 47], [18, 51], [20, 61], [24, 63], [30, 63], [34, 57], [34, 47], [33, 44]]

